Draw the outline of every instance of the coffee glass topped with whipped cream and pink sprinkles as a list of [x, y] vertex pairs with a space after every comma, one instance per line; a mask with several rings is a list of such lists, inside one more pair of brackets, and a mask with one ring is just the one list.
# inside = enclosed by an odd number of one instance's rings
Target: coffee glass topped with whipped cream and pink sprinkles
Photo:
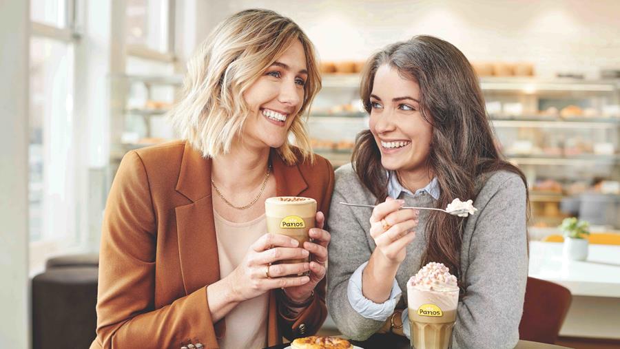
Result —
[[449, 349], [457, 317], [459, 286], [444, 264], [426, 264], [407, 282], [411, 348]]

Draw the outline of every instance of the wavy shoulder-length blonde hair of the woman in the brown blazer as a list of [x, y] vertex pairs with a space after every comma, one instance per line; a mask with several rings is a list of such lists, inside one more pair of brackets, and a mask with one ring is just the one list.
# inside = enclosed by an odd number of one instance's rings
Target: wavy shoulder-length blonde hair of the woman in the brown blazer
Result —
[[[302, 107], [278, 154], [289, 165], [298, 160], [313, 162], [305, 121], [321, 88], [316, 51], [295, 22], [270, 10], [233, 14], [209, 34], [189, 60], [182, 96], [169, 113], [179, 136], [205, 158], [229, 152], [250, 112], [243, 93], [295, 40], [304, 47], [308, 78]], [[298, 151], [291, 144], [291, 134]]]

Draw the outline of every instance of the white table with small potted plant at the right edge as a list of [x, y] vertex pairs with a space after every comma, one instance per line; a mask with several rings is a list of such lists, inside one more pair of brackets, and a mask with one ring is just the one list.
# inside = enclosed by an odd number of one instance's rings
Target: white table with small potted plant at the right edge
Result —
[[561, 242], [530, 242], [528, 272], [572, 294], [559, 335], [620, 339], [620, 246], [590, 244], [585, 261], [564, 258], [563, 246]]

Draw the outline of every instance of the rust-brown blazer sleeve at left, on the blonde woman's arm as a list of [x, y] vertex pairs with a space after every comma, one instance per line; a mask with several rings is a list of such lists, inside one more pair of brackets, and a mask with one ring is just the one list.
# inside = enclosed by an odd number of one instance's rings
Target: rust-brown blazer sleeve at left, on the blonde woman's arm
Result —
[[96, 339], [112, 348], [217, 348], [206, 287], [154, 308], [156, 215], [147, 172], [134, 151], [108, 196], [99, 256]]

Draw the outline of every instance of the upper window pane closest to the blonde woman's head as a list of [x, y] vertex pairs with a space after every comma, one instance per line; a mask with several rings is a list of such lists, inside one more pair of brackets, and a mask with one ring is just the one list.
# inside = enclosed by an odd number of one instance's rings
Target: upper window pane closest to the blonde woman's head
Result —
[[127, 44], [167, 52], [167, 0], [127, 0]]

